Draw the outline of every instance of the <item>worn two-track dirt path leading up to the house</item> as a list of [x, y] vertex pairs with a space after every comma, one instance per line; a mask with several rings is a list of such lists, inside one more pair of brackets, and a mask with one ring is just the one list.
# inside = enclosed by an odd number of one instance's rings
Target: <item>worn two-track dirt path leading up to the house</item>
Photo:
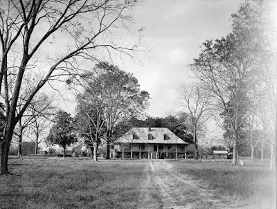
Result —
[[177, 173], [168, 161], [150, 161], [140, 208], [242, 208]]

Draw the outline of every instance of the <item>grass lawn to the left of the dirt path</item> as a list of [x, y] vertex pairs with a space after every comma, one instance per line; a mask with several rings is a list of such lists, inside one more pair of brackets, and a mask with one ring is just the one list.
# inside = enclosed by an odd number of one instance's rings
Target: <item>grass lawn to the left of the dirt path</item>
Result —
[[0, 176], [0, 208], [136, 208], [145, 161], [10, 159]]

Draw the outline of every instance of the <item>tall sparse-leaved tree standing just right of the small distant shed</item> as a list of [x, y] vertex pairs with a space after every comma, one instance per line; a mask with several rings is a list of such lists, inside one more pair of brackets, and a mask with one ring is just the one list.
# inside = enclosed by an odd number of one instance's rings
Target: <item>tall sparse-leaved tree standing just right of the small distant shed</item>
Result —
[[233, 163], [238, 161], [238, 140], [247, 113], [247, 88], [249, 81], [249, 66], [244, 62], [240, 44], [233, 34], [217, 39], [215, 43], [206, 41], [199, 58], [191, 64], [191, 69], [206, 87], [213, 93], [217, 120], [233, 141]]

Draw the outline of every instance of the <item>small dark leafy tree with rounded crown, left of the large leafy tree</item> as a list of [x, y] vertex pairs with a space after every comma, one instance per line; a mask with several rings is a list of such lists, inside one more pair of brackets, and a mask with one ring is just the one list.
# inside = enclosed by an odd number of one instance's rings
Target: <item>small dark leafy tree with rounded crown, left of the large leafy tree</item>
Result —
[[74, 124], [73, 118], [66, 111], [57, 111], [54, 118], [54, 125], [51, 127], [49, 135], [46, 138], [48, 145], [60, 145], [65, 150], [67, 145], [75, 142], [75, 134], [73, 134]]

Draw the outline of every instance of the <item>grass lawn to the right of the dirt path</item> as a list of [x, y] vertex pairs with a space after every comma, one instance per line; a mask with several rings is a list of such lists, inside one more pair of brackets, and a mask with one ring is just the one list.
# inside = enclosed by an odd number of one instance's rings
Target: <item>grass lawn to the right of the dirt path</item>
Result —
[[230, 166], [231, 161], [172, 161], [175, 169], [200, 181], [204, 188], [229, 196], [247, 208], [276, 208], [276, 174], [269, 162], [244, 161]]

